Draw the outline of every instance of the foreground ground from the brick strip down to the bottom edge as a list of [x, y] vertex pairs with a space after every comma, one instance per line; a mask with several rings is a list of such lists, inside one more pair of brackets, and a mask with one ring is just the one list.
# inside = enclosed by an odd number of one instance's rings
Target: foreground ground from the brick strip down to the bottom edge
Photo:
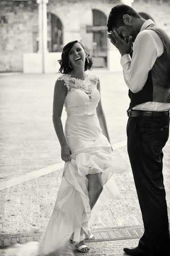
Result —
[[[95, 235], [96, 240], [86, 241], [91, 250], [89, 253], [85, 253], [85, 255], [125, 255], [123, 247], [135, 247], [143, 232], [143, 226], [94, 229], [93, 234]], [[3, 255], [3, 248], [11, 245], [12, 243], [19, 242], [24, 244], [30, 241], [40, 241], [41, 235], [41, 232], [37, 232], [25, 234], [20, 233], [17, 234], [17, 236], [16, 234], [1, 236], [0, 248], [2, 249], [0, 249], [0, 255], [1, 253]], [[82, 255], [82, 253], [79, 253], [77, 250], [74, 250], [74, 252], [76, 256]]]

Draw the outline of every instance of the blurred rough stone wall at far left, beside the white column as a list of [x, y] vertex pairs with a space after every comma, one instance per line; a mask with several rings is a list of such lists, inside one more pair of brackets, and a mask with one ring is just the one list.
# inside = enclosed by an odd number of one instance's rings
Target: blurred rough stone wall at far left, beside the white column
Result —
[[23, 71], [23, 53], [33, 52], [36, 1], [0, 1], [0, 72]]

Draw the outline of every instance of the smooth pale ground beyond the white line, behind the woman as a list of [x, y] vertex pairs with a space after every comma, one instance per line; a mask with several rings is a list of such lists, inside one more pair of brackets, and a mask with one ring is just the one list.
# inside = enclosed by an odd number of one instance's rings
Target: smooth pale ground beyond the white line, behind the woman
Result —
[[[100, 71], [96, 74], [100, 76], [103, 107], [114, 144], [126, 139], [127, 89], [120, 73], [113, 76]], [[54, 83], [58, 76], [21, 74], [0, 77], [2, 181], [49, 166], [60, 159], [52, 122]], [[119, 109], [116, 108], [118, 104]], [[65, 118], [63, 110], [63, 126]]]

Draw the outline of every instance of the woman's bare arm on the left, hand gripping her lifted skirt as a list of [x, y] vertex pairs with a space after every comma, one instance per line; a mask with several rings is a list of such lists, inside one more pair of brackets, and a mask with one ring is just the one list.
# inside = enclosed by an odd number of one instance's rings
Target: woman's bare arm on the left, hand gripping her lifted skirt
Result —
[[61, 145], [62, 160], [65, 162], [68, 162], [69, 160], [71, 160], [71, 157], [70, 157], [71, 151], [65, 140], [62, 121], [61, 121], [62, 109], [63, 109], [66, 93], [67, 93], [67, 88], [64, 85], [64, 81], [57, 80], [54, 87], [53, 123], [54, 123], [54, 128], [55, 128], [59, 143]]

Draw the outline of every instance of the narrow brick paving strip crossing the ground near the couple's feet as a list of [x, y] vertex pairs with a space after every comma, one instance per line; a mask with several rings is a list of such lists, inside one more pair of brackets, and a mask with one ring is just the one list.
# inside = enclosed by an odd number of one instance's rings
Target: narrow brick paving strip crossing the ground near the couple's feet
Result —
[[[96, 240], [86, 242], [117, 241], [126, 239], [139, 239], [144, 233], [143, 225], [129, 227], [109, 227], [91, 230]], [[0, 248], [7, 247], [14, 243], [25, 244], [30, 241], [40, 241], [42, 232], [18, 233], [0, 235]]]

